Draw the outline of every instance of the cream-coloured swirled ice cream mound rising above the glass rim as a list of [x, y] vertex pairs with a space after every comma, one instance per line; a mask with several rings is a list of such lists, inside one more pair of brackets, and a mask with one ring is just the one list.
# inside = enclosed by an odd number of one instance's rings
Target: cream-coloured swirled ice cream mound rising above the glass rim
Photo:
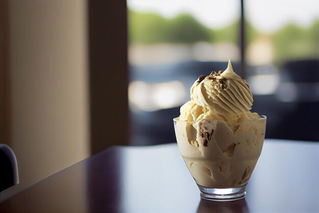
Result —
[[180, 110], [180, 120], [195, 122], [212, 118], [235, 122], [242, 116], [256, 117], [251, 113], [252, 94], [247, 82], [236, 75], [230, 60], [224, 71], [200, 76], [191, 88], [191, 101]]

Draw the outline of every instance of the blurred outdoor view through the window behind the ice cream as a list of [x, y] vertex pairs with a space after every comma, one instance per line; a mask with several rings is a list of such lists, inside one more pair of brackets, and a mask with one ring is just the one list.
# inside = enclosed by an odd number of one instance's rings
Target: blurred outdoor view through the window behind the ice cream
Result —
[[171, 120], [192, 83], [228, 59], [251, 87], [252, 111], [268, 117], [266, 137], [319, 140], [319, 2], [243, 6], [241, 14], [236, 0], [128, 1], [131, 144], [174, 141]]

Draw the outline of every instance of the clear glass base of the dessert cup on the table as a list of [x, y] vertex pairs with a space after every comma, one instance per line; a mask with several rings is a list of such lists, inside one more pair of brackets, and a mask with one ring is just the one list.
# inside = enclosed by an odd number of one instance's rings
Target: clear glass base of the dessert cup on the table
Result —
[[200, 196], [206, 200], [231, 201], [245, 198], [246, 185], [238, 188], [208, 188], [198, 185]]

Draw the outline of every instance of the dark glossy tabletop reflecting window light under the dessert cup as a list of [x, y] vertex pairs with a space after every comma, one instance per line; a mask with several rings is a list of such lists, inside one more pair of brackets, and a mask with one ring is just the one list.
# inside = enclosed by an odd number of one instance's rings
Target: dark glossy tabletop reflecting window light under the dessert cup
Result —
[[200, 199], [176, 144], [112, 147], [5, 200], [0, 212], [319, 212], [319, 143], [266, 139], [246, 198], [230, 202]]

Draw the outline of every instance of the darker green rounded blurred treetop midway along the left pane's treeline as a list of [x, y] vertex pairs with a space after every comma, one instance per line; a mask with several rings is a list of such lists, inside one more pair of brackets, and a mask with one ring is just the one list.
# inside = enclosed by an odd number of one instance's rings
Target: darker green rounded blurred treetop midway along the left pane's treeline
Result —
[[169, 22], [168, 42], [194, 43], [210, 41], [209, 29], [189, 14], [179, 14]]

